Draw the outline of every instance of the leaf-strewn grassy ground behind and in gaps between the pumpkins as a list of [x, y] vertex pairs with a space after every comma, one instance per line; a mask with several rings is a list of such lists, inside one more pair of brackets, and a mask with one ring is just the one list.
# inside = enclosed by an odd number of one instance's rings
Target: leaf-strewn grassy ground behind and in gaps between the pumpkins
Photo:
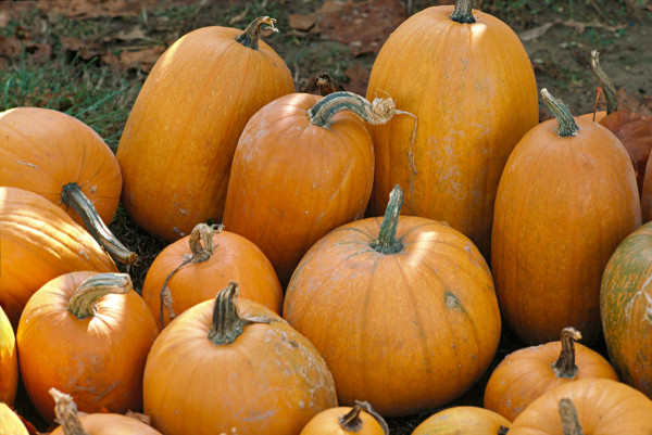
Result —
[[[326, 72], [364, 94], [374, 59], [409, 15], [448, 0], [50, 0], [0, 2], [0, 111], [37, 105], [77, 116], [115, 151], [138, 91], [158, 56], [192, 29], [244, 28], [256, 16], [277, 20], [266, 35], [286, 61], [297, 91], [315, 92]], [[510, 25], [530, 56], [537, 85], [562, 98], [572, 113], [591, 112], [598, 84], [589, 53], [618, 88], [622, 107], [652, 115], [651, 0], [478, 0], [477, 8]], [[603, 108], [601, 101], [599, 108]], [[549, 117], [541, 106], [541, 119]], [[137, 228], [120, 208], [111, 229], [142, 258], [136, 287], [164, 242]], [[521, 344], [509, 332], [492, 367]], [[604, 351], [604, 349], [601, 349]], [[490, 371], [489, 371], [490, 372]], [[454, 405], [481, 406], [487, 376]], [[38, 419], [21, 389], [16, 408]], [[389, 421], [409, 434], [431, 412]]]

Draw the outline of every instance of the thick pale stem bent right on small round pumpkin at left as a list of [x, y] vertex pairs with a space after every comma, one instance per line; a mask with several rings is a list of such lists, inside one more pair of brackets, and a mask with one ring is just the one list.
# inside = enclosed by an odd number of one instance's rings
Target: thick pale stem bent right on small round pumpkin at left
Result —
[[131, 291], [128, 273], [98, 273], [84, 281], [75, 291], [67, 309], [82, 320], [95, 316], [98, 300], [108, 294], [127, 294]]

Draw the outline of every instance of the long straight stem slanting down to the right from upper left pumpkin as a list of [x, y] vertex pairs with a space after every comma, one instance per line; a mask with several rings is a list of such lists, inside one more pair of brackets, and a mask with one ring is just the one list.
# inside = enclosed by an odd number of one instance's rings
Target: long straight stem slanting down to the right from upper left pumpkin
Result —
[[68, 207], [73, 207], [75, 212], [79, 214], [88, 232], [113, 258], [127, 265], [135, 265], [138, 263], [138, 255], [135, 252], [127, 250], [127, 247], [113, 235], [111, 230], [106, 228], [100, 218], [100, 215], [98, 215], [95, 205], [92, 205], [84, 192], [82, 192], [82, 189], [79, 189], [79, 184], [76, 182], [65, 184], [61, 191], [61, 201]]

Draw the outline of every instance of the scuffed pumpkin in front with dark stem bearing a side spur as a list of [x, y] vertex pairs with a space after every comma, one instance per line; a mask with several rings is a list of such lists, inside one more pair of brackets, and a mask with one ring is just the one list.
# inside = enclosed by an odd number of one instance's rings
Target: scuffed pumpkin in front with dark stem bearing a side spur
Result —
[[165, 435], [298, 435], [337, 406], [314, 346], [229, 283], [156, 338], [145, 368], [145, 413]]

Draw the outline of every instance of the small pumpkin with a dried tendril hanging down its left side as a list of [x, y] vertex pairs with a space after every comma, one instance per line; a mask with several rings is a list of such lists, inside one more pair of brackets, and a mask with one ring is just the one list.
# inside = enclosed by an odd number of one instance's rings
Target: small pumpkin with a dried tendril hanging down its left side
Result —
[[242, 297], [280, 315], [283, 290], [261, 250], [241, 235], [199, 223], [190, 235], [154, 258], [142, 284], [142, 298], [163, 328], [191, 306], [215, 298], [229, 281], [240, 283]]

